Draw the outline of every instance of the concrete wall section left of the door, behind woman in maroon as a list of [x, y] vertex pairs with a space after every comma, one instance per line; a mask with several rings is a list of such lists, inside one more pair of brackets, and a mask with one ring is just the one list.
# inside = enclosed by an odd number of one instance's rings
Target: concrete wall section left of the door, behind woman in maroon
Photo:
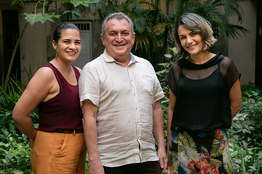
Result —
[[[24, 2], [25, 7], [18, 9], [18, 14], [32, 13], [36, 2]], [[38, 9], [36, 13], [42, 13], [43, 10]], [[25, 16], [19, 16], [19, 32], [21, 33], [26, 20]], [[23, 37], [20, 41], [20, 56], [21, 56], [21, 79], [25, 82], [28, 81], [26, 70], [29, 70], [31, 64], [32, 74], [38, 70], [37, 63], [42, 65], [47, 62], [47, 48], [46, 48], [46, 23], [40, 22], [27, 25]], [[42, 60], [41, 60], [42, 58]], [[25, 66], [25, 68], [24, 68]]]

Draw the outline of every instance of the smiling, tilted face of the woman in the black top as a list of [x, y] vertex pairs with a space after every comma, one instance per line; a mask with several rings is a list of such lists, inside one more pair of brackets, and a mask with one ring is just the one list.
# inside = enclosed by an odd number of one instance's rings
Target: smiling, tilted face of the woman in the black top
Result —
[[178, 36], [181, 46], [190, 56], [203, 53], [203, 43], [199, 32], [191, 31], [182, 24], [178, 27]]

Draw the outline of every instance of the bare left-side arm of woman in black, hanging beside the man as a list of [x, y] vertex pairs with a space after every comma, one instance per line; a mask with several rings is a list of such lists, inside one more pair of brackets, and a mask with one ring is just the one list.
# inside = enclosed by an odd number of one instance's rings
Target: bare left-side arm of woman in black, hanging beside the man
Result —
[[169, 100], [168, 112], [167, 112], [167, 155], [169, 153], [169, 145], [172, 136], [172, 131], [170, 130], [170, 127], [171, 127], [171, 122], [172, 122], [174, 108], [175, 108], [175, 101], [176, 101], [176, 96], [173, 94], [173, 92], [170, 89], [169, 89], [169, 96], [170, 96], [170, 100]]

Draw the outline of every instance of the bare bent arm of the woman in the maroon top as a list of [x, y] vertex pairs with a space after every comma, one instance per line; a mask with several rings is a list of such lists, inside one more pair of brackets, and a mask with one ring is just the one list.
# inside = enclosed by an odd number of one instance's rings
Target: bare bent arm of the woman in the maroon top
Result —
[[55, 80], [52, 69], [48, 67], [40, 68], [30, 80], [25, 92], [13, 110], [12, 118], [17, 128], [32, 140], [35, 139], [37, 131], [29, 114], [48, 96], [50, 91], [52, 93], [55, 92], [53, 88]]

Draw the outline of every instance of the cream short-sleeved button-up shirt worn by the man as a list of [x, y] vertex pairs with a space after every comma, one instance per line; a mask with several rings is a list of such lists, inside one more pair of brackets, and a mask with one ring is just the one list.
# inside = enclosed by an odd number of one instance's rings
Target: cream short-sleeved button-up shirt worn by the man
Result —
[[79, 78], [81, 107], [86, 99], [98, 107], [97, 145], [108, 167], [159, 159], [153, 108], [164, 93], [151, 63], [130, 55], [126, 67], [105, 50], [85, 65]]

